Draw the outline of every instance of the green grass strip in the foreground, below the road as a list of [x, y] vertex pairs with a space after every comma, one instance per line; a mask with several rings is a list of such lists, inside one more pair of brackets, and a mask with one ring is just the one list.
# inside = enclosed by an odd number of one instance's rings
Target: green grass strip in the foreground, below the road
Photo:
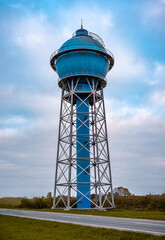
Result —
[[165, 240], [165, 236], [0, 215], [1, 240]]

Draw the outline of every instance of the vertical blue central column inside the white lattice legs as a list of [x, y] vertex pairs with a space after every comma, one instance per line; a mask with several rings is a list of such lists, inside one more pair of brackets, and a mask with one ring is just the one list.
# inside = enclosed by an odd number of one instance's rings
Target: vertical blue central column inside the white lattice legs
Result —
[[[85, 97], [81, 97], [85, 100]], [[80, 105], [81, 104], [81, 105]], [[76, 100], [77, 107], [77, 200], [82, 198], [82, 194], [90, 199], [90, 143], [89, 143], [89, 99], [84, 103], [80, 99]], [[82, 123], [85, 123], [85, 125]], [[82, 148], [85, 146], [85, 148]], [[83, 171], [86, 170], [86, 172]], [[81, 173], [81, 174], [80, 174]], [[88, 174], [89, 173], [89, 174]], [[82, 193], [79, 193], [79, 191]], [[77, 203], [77, 208], [91, 208], [91, 202], [83, 197]]]

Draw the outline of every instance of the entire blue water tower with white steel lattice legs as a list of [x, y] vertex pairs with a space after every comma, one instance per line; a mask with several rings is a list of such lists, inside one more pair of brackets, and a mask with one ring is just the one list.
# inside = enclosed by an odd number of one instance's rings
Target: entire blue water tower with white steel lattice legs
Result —
[[62, 89], [53, 208], [114, 207], [103, 88], [114, 58], [78, 29], [50, 59]]

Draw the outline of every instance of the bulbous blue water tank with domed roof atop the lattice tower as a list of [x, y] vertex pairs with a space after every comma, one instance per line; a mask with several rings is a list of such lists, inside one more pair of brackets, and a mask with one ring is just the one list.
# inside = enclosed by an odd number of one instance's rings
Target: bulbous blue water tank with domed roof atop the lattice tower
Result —
[[113, 55], [102, 39], [86, 29], [78, 29], [51, 56], [51, 66], [60, 80], [78, 75], [105, 79], [113, 64]]

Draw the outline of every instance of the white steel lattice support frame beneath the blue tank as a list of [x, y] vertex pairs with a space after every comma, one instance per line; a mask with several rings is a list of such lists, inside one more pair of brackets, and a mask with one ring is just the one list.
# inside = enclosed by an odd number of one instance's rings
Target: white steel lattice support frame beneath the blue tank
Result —
[[[71, 198], [75, 197], [77, 193], [82, 195], [79, 201], [86, 198], [91, 202], [92, 209], [102, 210], [114, 207], [103, 88], [98, 88], [94, 78], [86, 77], [85, 79], [89, 87], [87, 92], [76, 90], [79, 82], [78, 77], [63, 83], [52, 207], [54, 209], [75, 209], [78, 201], [75, 200], [73, 203]], [[84, 122], [76, 114], [80, 106], [75, 105], [75, 99], [77, 98], [80, 105], [85, 105], [87, 99], [90, 103], [89, 116]], [[89, 128], [89, 149], [86, 144], [83, 145], [78, 141], [76, 135], [78, 130], [77, 119], [82, 125]], [[89, 127], [86, 124], [87, 121], [89, 121]], [[77, 143], [81, 146], [79, 150], [76, 147]], [[80, 152], [83, 149], [90, 154], [90, 164], [85, 169], [78, 164], [77, 158], [78, 151]], [[79, 174], [76, 172], [77, 167], [81, 169]], [[88, 171], [88, 168], [90, 168], [90, 171]], [[95, 194], [95, 200], [88, 197], [89, 192], [84, 194], [77, 188], [77, 177], [83, 172], [90, 175], [90, 193]]]

